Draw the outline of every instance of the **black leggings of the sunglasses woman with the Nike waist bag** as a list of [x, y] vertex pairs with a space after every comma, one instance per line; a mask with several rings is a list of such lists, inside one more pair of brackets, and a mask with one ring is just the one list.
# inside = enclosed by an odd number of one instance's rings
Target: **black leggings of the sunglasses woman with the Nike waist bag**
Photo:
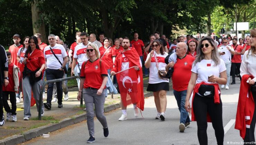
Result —
[[209, 113], [212, 121], [212, 127], [215, 131], [215, 136], [218, 145], [223, 145], [224, 129], [222, 123], [222, 102], [214, 103], [214, 98], [202, 97], [195, 94], [193, 100], [193, 110], [197, 123], [197, 135], [200, 145], [207, 145], [207, 113]]

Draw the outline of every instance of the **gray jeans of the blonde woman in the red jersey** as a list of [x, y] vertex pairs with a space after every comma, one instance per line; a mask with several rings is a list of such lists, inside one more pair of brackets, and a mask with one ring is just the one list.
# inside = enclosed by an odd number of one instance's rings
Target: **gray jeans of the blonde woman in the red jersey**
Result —
[[83, 98], [86, 106], [87, 126], [89, 135], [94, 136], [94, 110], [95, 106], [96, 117], [103, 126], [107, 128], [107, 119], [104, 116], [104, 103], [105, 103], [105, 89], [103, 89], [101, 95], [97, 95], [97, 89], [83, 89]]

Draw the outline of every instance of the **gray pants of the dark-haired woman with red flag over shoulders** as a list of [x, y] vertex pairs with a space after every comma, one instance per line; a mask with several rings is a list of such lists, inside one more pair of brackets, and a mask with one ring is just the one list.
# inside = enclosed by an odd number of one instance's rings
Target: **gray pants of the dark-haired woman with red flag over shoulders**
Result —
[[[39, 80], [37, 82], [35, 82], [35, 84], [33, 86], [30, 85], [29, 83], [29, 77], [26, 76], [23, 80], [22, 80], [22, 90], [23, 90], [23, 98], [24, 98], [24, 117], [31, 117], [31, 113], [30, 113], [30, 101], [31, 101], [31, 89], [33, 91], [33, 96], [36, 100], [36, 108], [37, 108], [37, 112], [38, 112], [38, 108], [39, 108], [39, 97], [40, 97], [40, 89], [41, 89], [41, 84], [42, 81]], [[44, 110], [44, 104], [43, 104], [43, 99], [42, 99], [42, 111]]]

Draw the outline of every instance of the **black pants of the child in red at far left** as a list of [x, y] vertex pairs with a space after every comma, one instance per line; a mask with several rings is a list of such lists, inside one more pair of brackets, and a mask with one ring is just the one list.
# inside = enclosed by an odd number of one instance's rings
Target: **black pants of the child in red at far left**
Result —
[[[8, 104], [8, 99], [10, 95], [11, 108]], [[3, 107], [6, 112], [11, 112], [11, 115], [16, 115], [16, 93], [14, 91], [3, 91]]]

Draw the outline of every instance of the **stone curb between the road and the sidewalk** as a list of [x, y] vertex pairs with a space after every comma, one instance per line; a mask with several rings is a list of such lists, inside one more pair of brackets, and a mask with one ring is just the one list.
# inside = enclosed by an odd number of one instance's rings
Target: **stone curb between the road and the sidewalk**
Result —
[[[150, 97], [153, 95], [153, 92], [147, 92], [144, 94], [144, 98]], [[104, 113], [110, 112], [112, 110], [120, 108], [120, 103], [112, 104], [104, 107]], [[94, 112], [95, 116], [95, 112]], [[58, 129], [79, 123], [86, 120], [86, 113], [81, 115], [75, 115], [72, 118], [65, 118], [61, 120], [59, 123], [52, 123], [43, 127], [35, 128], [29, 130], [20, 135], [12, 135], [10, 137], [4, 138], [0, 140], [0, 145], [13, 145], [13, 144], [20, 144], [26, 141], [29, 141], [33, 138], [42, 136], [43, 134], [48, 134], [49, 132], [57, 131]]]

